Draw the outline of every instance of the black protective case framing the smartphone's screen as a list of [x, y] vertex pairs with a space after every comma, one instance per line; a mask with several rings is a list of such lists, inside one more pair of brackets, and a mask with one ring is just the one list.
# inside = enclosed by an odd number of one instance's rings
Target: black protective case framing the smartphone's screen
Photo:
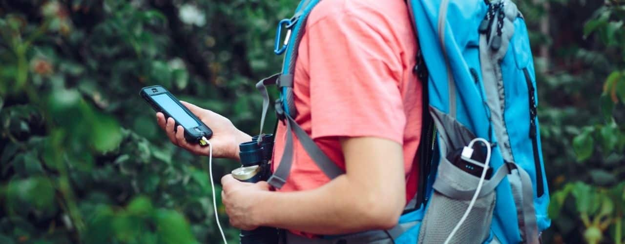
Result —
[[[208, 126], [206, 126], [204, 122], [202, 122], [202, 120], [199, 120], [199, 118], [197, 118], [196, 115], [194, 115], [191, 111], [189, 111], [187, 107], [181, 104], [179, 100], [176, 97], [174, 97], [174, 95], [171, 94], [171, 92], [169, 92], [169, 90], [165, 89], [165, 87], [161, 85], [153, 85], [149, 87], [143, 87], [141, 89], [141, 92], [139, 92], [139, 95], [141, 95], [141, 97], [143, 97], [143, 99], [146, 100], [146, 102], [148, 102], [149, 105], [151, 105], [154, 111], [162, 112], [165, 115], [165, 119], [168, 119], [169, 117], [172, 117], [171, 114], [169, 114], [168, 111], [166, 111], [160, 104], [156, 103], [154, 99], [152, 99], [153, 95], [159, 95], [159, 94], [169, 95], [169, 97], [171, 97], [171, 99], [173, 99], [174, 102], [176, 102], [176, 104], [178, 104], [180, 107], [183, 108], [184, 112], [189, 114], [191, 118], [196, 120], [197, 124], [199, 124], [196, 127], [184, 128], [184, 139], [186, 139], [187, 142], [197, 143], [202, 137], [206, 137], [206, 139], [211, 138], [212, 130]], [[176, 126], [174, 127], [174, 130], [176, 130], [178, 129], [178, 125], [180, 124], [178, 124], [178, 120], [176, 120], [176, 118], [174, 118], [174, 121], [176, 121]]]

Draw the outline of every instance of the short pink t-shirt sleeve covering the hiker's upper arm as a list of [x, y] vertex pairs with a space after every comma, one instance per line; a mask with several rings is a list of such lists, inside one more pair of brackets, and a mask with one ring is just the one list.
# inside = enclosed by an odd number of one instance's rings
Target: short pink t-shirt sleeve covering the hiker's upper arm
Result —
[[388, 23], [349, 12], [307, 27], [312, 137], [381, 137], [402, 144], [401, 51]]

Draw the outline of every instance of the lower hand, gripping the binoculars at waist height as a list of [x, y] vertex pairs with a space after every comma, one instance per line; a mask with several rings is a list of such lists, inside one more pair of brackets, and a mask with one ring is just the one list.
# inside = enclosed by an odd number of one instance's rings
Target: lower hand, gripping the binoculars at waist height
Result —
[[239, 182], [232, 175], [225, 175], [221, 178], [221, 185], [221, 201], [226, 207], [230, 225], [241, 230], [258, 228], [260, 220], [255, 219], [258, 215], [254, 213], [257, 210], [254, 206], [260, 204], [257, 200], [260, 194], [269, 192], [269, 184]]

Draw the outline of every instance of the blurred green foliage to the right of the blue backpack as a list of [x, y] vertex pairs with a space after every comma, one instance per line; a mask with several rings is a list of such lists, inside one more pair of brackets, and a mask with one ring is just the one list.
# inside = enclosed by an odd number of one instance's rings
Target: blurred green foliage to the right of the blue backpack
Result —
[[[579, 33], [581, 39], [560, 40], [559, 53], [541, 74], [547, 85], [541, 96], [547, 104], [539, 116], [552, 179], [549, 232], [554, 242], [623, 243], [625, 2], [549, 4], [586, 16], [583, 25], [574, 25], [578, 29], [557, 31]], [[586, 10], [581, 13], [577, 7]]]

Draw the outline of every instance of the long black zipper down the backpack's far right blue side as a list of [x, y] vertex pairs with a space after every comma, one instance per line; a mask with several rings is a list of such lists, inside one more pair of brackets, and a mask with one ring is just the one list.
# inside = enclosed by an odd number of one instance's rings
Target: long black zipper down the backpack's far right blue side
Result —
[[529, 95], [529, 138], [532, 139], [532, 150], [534, 152], [534, 167], [536, 168], [536, 195], [541, 197], [544, 194], [544, 186], [542, 184], [542, 168], [541, 159], [538, 151], [538, 137], [536, 128], [536, 97], [534, 97], [534, 85], [529, 77], [527, 68], [523, 69], [525, 80], [527, 82], [527, 93]]

